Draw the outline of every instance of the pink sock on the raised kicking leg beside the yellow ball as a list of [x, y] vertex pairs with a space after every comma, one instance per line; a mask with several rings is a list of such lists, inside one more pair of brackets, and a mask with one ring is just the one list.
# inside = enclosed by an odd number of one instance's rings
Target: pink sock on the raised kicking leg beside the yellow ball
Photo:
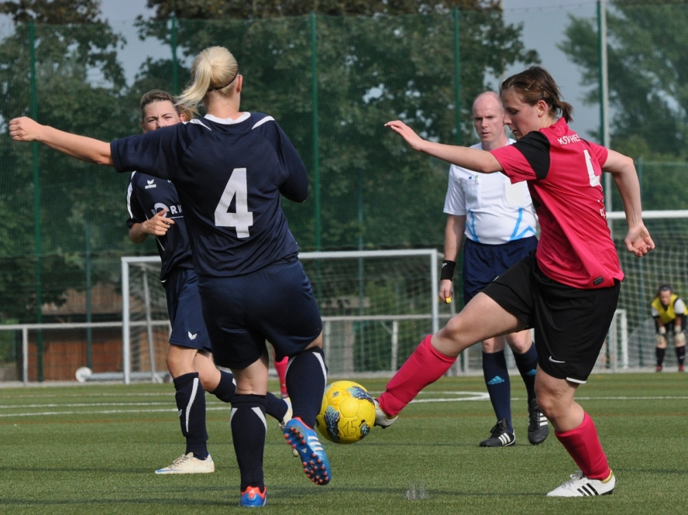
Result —
[[420, 342], [378, 397], [380, 408], [390, 417], [398, 415], [418, 392], [440, 379], [456, 361], [456, 358], [438, 352], [430, 343], [430, 338], [429, 335]]

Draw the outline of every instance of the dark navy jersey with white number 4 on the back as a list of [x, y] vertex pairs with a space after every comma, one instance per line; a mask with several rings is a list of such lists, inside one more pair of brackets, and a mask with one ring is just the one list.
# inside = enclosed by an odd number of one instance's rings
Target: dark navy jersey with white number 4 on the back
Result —
[[110, 144], [118, 172], [171, 180], [184, 207], [197, 274], [232, 277], [296, 256], [280, 194], [302, 202], [308, 175], [271, 117], [206, 115]]

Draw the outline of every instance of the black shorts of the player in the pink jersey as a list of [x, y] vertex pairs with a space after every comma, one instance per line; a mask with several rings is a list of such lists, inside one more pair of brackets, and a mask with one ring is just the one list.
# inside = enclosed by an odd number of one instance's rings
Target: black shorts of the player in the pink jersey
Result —
[[483, 293], [535, 329], [537, 364], [552, 377], [584, 383], [592, 372], [619, 300], [621, 283], [579, 289], [546, 277], [535, 252], [497, 277]]

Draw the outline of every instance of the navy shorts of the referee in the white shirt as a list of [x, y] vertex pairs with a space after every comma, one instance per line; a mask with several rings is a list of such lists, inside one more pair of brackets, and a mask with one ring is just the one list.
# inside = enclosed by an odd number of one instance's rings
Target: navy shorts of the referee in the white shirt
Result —
[[482, 292], [495, 278], [537, 248], [537, 238], [517, 239], [501, 245], [485, 245], [466, 238], [464, 243], [464, 304]]

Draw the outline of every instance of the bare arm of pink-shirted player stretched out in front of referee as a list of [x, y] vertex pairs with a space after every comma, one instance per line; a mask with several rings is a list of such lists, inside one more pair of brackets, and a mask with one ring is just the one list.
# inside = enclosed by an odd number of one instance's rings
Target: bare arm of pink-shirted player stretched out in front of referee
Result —
[[494, 173], [503, 171], [497, 158], [488, 151], [469, 149], [466, 146], [443, 145], [423, 140], [413, 129], [404, 122], [396, 120], [387, 122], [385, 127], [401, 135], [411, 146], [411, 149], [437, 157], [442, 161], [463, 166], [480, 173]]

